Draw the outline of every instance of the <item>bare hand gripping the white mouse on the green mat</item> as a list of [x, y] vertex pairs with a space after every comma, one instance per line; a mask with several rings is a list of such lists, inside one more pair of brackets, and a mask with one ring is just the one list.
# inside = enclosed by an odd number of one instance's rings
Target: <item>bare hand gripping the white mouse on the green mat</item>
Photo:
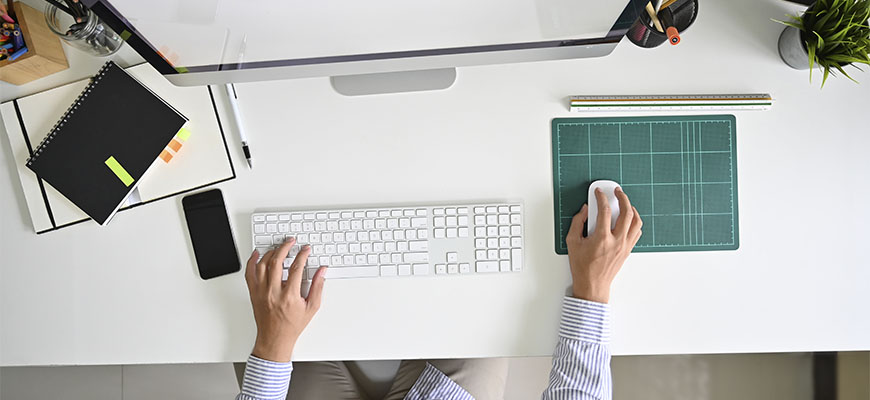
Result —
[[610, 284], [622, 268], [622, 264], [641, 235], [643, 221], [637, 209], [632, 207], [628, 196], [617, 187], [619, 217], [613, 230], [610, 226], [610, 206], [601, 189], [595, 190], [598, 199], [598, 228], [591, 236], [583, 236], [583, 224], [589, 217], [589, 207], [583, 205], [571, 221], [566, 242], [571, 263], [573, 296], [580, 299], [607, 303], [610, 301]]

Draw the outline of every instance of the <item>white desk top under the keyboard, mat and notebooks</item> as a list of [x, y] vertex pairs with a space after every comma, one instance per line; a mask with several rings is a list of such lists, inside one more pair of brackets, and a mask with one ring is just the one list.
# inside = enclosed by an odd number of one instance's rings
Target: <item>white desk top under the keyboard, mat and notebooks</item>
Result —
[[[234, 140], [238, 179], [220, 188], [242, 253], [256, 208], [526, 206], [524, 272], [328, 281], [296, 359], [550, 354], [569, 282], [553, 252], [550, 119], [572, 115], [568, 95], [620, 93], [768, 91], [776, 103], [736, 113], [740, 249], [633, 255], [613, 289], [614, 353], [870, 349], [870, 75], [820, 91], [776, 52], [782, 27], [769, 19], [793, 8], [732, 3], [704, 3], [678, 47], [623, 41], [601, 59], [461, 68], [441, 92], [239, 85], [257, 166], [243, 167]], [[668, 70], [677, 78], [653, 79]], [[180, 199], [36, 236], [6, 135], [0, 166], [0, 365], [245, 358], [255, 328], [243, 276], [200, 280]]]

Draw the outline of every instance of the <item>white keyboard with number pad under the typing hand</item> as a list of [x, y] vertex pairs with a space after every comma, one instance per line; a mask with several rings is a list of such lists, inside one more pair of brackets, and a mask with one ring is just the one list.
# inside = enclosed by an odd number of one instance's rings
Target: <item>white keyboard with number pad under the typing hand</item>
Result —
[[284, 279], [302, 245], [311, 245], [305, 279], [419, 277], [523, 269], [521, 204], [258, 212], [251, 216], [260, 255], [295, 237]]

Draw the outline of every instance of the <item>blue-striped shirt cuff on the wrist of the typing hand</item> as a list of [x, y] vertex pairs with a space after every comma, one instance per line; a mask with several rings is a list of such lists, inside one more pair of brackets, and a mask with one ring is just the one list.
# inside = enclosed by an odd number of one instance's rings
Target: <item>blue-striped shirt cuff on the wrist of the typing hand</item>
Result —
[[284, 400], [293, 363], [279, 363], [248, 356], [242, 392], [236, 400]]

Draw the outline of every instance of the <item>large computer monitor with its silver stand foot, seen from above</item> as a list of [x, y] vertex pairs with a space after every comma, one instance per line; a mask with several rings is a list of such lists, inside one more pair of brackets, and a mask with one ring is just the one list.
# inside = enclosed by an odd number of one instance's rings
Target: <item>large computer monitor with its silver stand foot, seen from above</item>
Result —
[[344, 94], [455, 67], [599, 57], [646, 0], [82, 0], [176, 85], [329, 76]]

